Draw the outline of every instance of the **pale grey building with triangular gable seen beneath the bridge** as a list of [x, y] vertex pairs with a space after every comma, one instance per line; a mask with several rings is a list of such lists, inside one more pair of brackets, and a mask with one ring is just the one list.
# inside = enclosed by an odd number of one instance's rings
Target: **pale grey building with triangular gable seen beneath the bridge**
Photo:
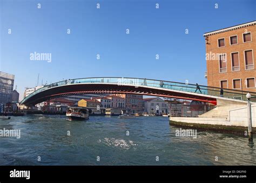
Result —
[[144, 98], [144, 111], [151, 115], [170, 113], [170, 104], [160, 97]]

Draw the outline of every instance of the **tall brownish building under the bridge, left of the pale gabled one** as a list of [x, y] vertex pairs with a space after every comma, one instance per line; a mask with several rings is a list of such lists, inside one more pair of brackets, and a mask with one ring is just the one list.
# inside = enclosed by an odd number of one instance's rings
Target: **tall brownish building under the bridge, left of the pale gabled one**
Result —
[[127, 113], [142, 113], [144, 111], [143, 95], [115, 94], [125, 98], [125, 108]]

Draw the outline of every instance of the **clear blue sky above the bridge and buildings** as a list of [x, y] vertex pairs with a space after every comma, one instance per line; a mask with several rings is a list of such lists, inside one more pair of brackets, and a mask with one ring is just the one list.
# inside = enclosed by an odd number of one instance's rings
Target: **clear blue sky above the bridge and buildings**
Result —
[[[0, 0], [0, 71], [15, 74], [21, 95], [38, 73], [40, 84], [120, 76], [207, 85], [203, 34], [255, 20], [255, 7], [253, 0]], [[51, 53], [52, 62], [30, 60], [34, 52]]]

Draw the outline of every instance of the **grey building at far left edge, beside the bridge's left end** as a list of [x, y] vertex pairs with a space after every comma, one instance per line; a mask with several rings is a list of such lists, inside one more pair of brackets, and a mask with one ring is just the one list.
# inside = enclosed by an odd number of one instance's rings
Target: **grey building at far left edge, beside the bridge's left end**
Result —
[[11, 102], [15, 75], [0, 71], [0, 103]]

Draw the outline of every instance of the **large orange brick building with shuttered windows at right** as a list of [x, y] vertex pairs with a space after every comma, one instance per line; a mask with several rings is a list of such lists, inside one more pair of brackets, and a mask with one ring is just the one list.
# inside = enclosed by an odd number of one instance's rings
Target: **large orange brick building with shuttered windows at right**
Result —
[[256, 21], [207, 32], [207, 85], [256, 92]]

